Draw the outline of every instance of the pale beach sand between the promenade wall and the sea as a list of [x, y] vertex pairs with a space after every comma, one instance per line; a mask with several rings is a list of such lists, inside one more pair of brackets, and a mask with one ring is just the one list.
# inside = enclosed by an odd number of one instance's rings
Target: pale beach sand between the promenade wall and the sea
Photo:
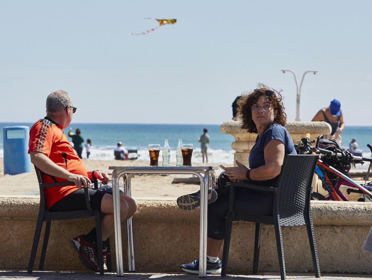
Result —
[[[94, 160], [83, 159], [87, 170], [99, 169], [111, 173], [109, 166], [148, 166], [144, 161], [118, 161], [118, 160]], [[175, 163], [173, 162], [174, 166]], [[205, 166], [208, 164], [194, 164], [194, 166]], [[216, 165], [216, 164], [213, 164]], [[223, 164], [226, 167], [231, 164]], [[216, 170], [216, 177], [222, 169]], [[180, 195], [195, 192], [199, 189], [197, 184], [178, 183], [172, 184], [175, 177], [189, 178], [192, 175], [135, 175], [132, 178], [132, 197], [134, 198], [177, 198]], [[111, 175], [110, 175], [111, 178]], [[36, 178], [33, 165], [31, 172], [17, 175], [4, 175], [3, 158], [0, 158], [0, 195], [35, 195], [39, 194], [38, 179]]]

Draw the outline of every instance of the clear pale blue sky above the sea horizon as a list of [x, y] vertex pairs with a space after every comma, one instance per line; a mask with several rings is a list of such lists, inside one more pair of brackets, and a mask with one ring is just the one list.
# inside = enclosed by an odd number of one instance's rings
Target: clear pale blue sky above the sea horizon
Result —
[[[372, 1], [2, 1], [0, 120], [34, 122], [64, 89], [74, 122], [213, 123], [258, 82], [283, 89], [295, 120], [334, 98], [371, 125]], [[157, 26], [144, 17], [175, 18]]]

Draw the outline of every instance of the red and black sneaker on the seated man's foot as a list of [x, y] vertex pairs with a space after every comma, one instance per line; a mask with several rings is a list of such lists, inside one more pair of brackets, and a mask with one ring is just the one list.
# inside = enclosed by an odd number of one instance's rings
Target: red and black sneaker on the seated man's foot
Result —
[[84, 234], [79, 235], [75, 238], [71, 238], [71, 246], [73, 249], [79, 253], [79, 259], [81, 263], [93, 271], [99, 270], [97, 264], [97, 247], [96, 244], [92, 244], [84, 239]]

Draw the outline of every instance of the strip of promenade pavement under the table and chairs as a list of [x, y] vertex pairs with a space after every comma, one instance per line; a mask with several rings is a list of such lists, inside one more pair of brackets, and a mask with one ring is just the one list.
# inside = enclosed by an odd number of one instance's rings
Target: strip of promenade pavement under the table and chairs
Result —
[[[289, 275], [288, 275], [289, 274]], [[116, 273], [92, 273], [91, 271], [33, 271], [27, 274], [23, 270], [0, 270], [0, 280], [195, 280], [199, 279], [196, 274], [180, 273], [124, 273], [124, 277], [117, 277]], [[208, 275], [206, 280], [280, 280], [280, 274], [262, 273], [259, 275], [228, 275], [221, 278], [219, 275]], [[287, 273], [287, 279], [298, 280], [367, 280], [372, 279], [370, 274], [327, 274], [324, 273], [320, 278], [315, 278], [313, 273]]]

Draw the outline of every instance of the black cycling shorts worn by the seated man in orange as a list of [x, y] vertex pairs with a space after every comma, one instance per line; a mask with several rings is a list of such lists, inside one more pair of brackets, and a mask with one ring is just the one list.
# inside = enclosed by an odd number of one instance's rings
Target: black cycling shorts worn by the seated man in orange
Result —
[[[92, 209], [97, 209], [99, 211], [101, 211], [101, 201], [103, 195], [105, 194], [112, 195], [112, 193], [110, 192], [93, 190], [91, 188], [89, 188], [88, 191], [90, 197], [90, 207], [92, 207]], [[55, 202], [49, 210], [51, 212], [87, 210], [84, 189], [81, 188], [79, 190], [71, 192], [70, 194], [66, 195], [65, 197]]]

